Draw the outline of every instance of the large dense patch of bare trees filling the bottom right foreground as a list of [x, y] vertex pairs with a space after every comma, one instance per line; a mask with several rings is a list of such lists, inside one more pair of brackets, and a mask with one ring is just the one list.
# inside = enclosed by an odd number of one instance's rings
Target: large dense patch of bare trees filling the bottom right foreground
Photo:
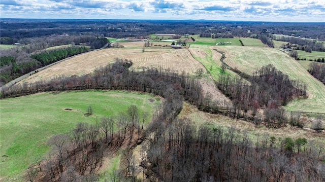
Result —
[[265, 135], [253, 144], [247, 131], [235, 127], [197, 128], [187, 119], [152, 129], [154, 139], [144, 166], [157, 180], [325, 180], [324, 164], [318, 155], [321, 148], [307, 145], [305, 138]]

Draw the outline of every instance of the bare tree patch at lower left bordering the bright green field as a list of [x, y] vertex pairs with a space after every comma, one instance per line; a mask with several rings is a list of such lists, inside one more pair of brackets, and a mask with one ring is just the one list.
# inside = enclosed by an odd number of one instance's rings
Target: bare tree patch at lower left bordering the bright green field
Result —
[[[131, 105], [117, 118], [103, 117], [96, 124], [78, 123], [69, 134], [55, 135], [48, 141], [51, 150], [42, 163], [42, 170], [30, 167], [26, 178], [30, 181], [37, 177], [46, 181], [94, 181], [104, 156], [118, 150], [127, 164], [121, 171], [122, 176], [136, 178], [133, 149], [144, 131], [138, 122], [142, 119], [146, 120], [147, 114]], [[41, 164], [38, 165], [41, 168]], [[37, 176], [38, 173], [41, 174]]]

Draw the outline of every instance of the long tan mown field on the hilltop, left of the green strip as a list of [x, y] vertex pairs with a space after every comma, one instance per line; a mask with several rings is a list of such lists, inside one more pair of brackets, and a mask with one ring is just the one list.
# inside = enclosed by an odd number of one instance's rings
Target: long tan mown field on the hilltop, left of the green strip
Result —
[[[130, 43], [131, 44], [131, 43]], [[33, 74], [19, 83], [36, 82], [58, 76], [70, 77], [90, 74], [96, 68], [114, 62], [115, 58], [132, 60], [133, 68], [142, 70], [142, 67], [170, 69], [194, 73], [203, 65], [194, 59], [187, 49], [172, 48], [109, 48], [91, 51], [74, 56], [65, 61], [50, 66]]]

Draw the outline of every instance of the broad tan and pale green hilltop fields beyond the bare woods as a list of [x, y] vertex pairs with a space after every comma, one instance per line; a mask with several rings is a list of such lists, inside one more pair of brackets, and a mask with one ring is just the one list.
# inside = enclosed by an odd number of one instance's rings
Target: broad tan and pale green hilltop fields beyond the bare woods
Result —
[[[95, 68], [113, 62], [114, 58], [131, 59], [133, 62], [131, 68], [138, 71], [141, 71], [143, 67], [161, 70], [169, 68], [177, 70], [179, 73], [185, 71], [194, 75], [199, 68], [203, 68], [204, 72], [208, 72], [213, 80], [217, 81], [222, 65], [221, 54], [214, 50], [217, 49], [225, 53], [224, 62], [226, 64], [249, 75], [263, 65], [273, 64], [287, 74], [290, 79], [307, 84], [309, 97], [289, 102], [285, 106], [286, 110], [324, 113], [322, 106], [325, 105], [325, 93], [323, 92], [325, 86], [313, 78], [298, 61], [280, 50], [258, 46], [190, 45], [188, 49], [148, 47], [143, 52], [141, 49], [143, 42], [121, 42], [120, 44], [124, 44], [125, 48], [103, 49], [78, 55], [39, 71], [18, 83], [36, 82], [57, 76], [70, 77], [90, 74]], [[230, 69], [226, 69], [225, 72], [232, 76], [237, 75]]]

